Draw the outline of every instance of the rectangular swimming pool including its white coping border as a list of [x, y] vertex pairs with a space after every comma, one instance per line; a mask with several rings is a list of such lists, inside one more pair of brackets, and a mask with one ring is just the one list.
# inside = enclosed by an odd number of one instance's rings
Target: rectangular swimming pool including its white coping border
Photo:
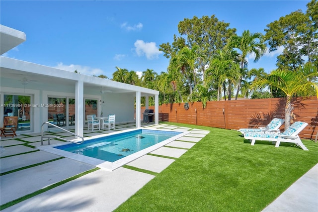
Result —
[[113, 171], [188, 133], [189, 131], [129, 129], [106, 136], [94, 136], [85, 139], [82, 144], [52, 144], [37, 148]]

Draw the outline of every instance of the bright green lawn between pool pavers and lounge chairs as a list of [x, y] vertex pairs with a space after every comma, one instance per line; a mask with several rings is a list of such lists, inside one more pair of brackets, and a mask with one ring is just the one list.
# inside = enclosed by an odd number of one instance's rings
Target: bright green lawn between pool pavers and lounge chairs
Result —
[[318, 163], [311, 140], [303, 140], [309, 151], [290, 143], [251, 146], [235, 130], [169, 124], [211, 132], [116, 212], [259, 212]]

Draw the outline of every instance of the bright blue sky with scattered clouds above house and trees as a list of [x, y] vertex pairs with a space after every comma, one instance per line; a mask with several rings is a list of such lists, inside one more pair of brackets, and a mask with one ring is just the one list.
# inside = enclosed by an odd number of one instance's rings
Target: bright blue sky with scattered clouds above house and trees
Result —
[[[23, 31], [26, 41], [2, 56], [81, 74], [112, 78], [116, 66], [138, 73], [165, 72], [169, 59], [159, 51], [179, 35], [184, 18], [215, 15], [243, 30], [264, 33], [266, 25], [302, 9], [309, 0], [204, 1], [16, 1], [0, 0], [0, 23]], [[266, 53], [248, 68], [275, 69], [277, 52]]]

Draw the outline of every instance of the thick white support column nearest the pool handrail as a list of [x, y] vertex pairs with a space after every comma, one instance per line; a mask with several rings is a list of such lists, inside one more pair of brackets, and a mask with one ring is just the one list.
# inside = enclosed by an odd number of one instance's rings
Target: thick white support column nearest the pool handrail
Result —
[[84, 83], [77, 81], [75, 84], [75, 134], [79, 136], [83, 136], [84, 109]]

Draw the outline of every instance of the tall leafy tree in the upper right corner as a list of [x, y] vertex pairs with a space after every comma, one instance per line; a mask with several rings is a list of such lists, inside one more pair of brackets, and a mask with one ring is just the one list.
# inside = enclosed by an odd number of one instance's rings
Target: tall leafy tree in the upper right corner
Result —
[[283, 54], [277, 57], [277, 66], [295, 71], [304, 63], [304, 57], [317, 65], [318, 59], [318, 1], [307, 4], [307, 13], [294, 11], [267, 25], [265, 40], [269, 51], [283, 47]]

